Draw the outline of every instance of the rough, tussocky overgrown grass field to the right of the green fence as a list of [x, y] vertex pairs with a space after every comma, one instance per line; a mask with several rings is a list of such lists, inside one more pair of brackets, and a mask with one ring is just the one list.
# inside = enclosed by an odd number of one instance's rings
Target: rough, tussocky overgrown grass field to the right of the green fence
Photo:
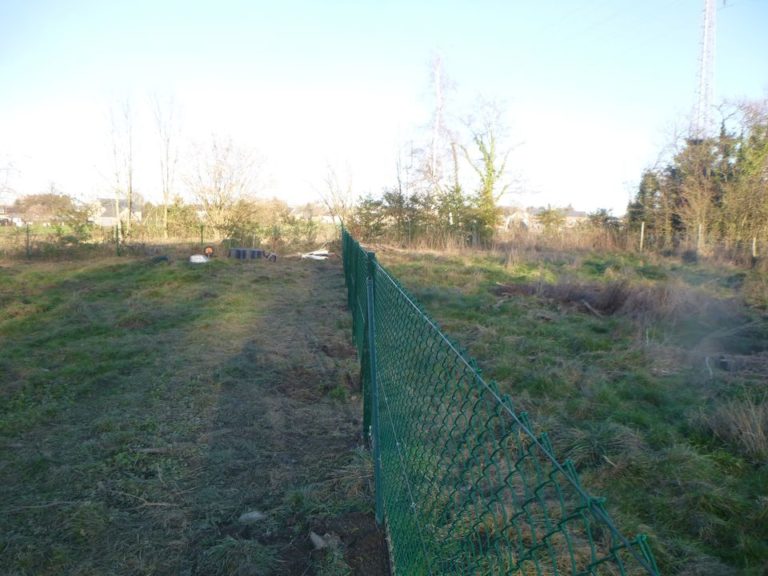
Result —
[[634, 254], [381, 250], [664, 574], [768, 571], [758, 271]]

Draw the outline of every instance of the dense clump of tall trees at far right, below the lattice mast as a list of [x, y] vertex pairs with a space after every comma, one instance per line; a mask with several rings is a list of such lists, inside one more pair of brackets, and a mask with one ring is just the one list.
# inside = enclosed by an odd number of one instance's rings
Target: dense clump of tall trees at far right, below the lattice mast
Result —
[[720, 113], [720, 133], [674, 143], [672, 158], [645, 171], [629, 205], [628, 226], [644, 223], [659, 251], [685, 242], [744, 258], [766, 238], [768, 101], [724, 105]]

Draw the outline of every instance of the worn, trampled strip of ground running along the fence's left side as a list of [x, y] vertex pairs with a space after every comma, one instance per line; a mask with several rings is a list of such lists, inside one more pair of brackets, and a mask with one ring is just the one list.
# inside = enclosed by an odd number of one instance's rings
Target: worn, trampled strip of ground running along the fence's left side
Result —
[[[275, 574], [337, 574], [344, 564], [361, 575], [382, 573], [382, 538], [366, 502], [370, 467], [358, 448], [358, 368], [340, 270], [304, 262], [266, 271], [254, 280], [278, 282], [274, 299], [238, 353], [217, 368], [226, 376], [205, 484], [239, 487], [240, 509], [264, 510], [277, 525], [217, 530], [262, 532], [279, 549]], [[313, 552], [310, 531], [328, 534], [335, 549]]]

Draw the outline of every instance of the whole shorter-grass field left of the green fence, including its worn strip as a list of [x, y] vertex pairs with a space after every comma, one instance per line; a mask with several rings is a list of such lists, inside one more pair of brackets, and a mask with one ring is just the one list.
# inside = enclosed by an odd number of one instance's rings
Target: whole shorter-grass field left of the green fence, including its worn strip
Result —
[[0, 573], [384, 573], [344, 296], [330, 261], [0, 262]]

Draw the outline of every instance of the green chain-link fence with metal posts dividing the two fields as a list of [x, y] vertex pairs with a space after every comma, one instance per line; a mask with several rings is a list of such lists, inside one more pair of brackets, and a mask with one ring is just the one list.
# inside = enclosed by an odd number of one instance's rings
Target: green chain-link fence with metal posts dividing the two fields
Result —
[[658, 574], [524, 412], [346, 231], [376, 517], [395, 574]]

